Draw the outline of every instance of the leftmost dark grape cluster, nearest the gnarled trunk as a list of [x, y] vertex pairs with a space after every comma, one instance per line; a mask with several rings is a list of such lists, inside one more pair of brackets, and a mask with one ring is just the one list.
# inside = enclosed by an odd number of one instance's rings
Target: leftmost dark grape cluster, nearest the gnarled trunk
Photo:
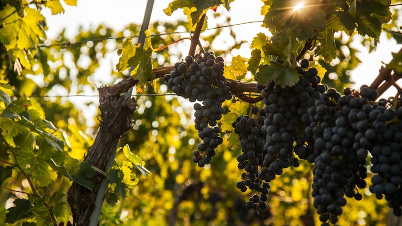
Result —
[[164, 76], [168, 87], [177, 95], [191, 102], [202, 101], [193, 106], [195, 129], [203, 141], [193, 151], [193, 162], [199, 167], [210, 163], [216, 154], [215, 149], [223, 142], [217, 121], [225, 112], [222, 103], [232, 98], [223, 73], [223, 58], [206, 52], [194, 57], [186, 56], [185, 61], [177, 62], [174, 70]]

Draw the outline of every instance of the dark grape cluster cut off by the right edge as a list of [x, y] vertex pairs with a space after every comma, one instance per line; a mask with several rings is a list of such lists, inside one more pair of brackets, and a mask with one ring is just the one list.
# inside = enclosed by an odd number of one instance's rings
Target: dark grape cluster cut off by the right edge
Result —
[[[376, 173], [371, 178], [370, 192], [380, 199], [385, 196], [393, 214], [402, 215], [402, 107], [387, 108], [392, 103], [384, 99], [379, 106], [370, 111], [372, 128], [366, 137], [375, 137], [375, 143], [369, 150], [372, 155], [371, 171]], [[373, 129], [375, 128], [375, 129]]]

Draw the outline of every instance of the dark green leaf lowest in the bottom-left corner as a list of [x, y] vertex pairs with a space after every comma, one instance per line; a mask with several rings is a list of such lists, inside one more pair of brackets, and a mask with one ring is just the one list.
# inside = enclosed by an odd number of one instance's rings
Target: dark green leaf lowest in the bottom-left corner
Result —
[[15, 223], [18, 220], [30, 218], [34, 216], [33, 206], [30, 200], [17, 198], [13, 202], [15, 206], [7, 209], [6, 223]]

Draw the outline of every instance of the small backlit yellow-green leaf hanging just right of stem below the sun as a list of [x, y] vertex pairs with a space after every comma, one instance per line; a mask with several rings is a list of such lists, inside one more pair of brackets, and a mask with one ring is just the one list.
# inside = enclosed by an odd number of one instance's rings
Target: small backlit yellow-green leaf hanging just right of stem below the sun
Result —
[[328, 29], [325, 31], [321, 31], [319, 33], [321, 47], [318, 48], [317, 55], [322, 55], [325, 59], [325, 62], [329, 63], [331, 60], [336, 58], [336, 46], [334, 43], [334, 32], [329, 31]]

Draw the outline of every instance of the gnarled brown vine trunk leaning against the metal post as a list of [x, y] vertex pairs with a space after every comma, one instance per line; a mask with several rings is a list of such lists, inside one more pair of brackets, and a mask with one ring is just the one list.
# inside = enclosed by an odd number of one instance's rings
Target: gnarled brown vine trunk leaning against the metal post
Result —
[[[120, 138], [131, 129], [131, 120], [137, 103], [134, 98], [122, 95], [129, 90], [138, 80], [127, 77], [113, 86], [98, 88], [100, 128], [89, 148], [85, 160], [92, 166], [106, 171], [106, 165], [111, 154], [116, 151], [116, 144]], [[104, 176], [96, 172], [92, 178], [94, 187], [89, 190], [73, 182], [67, 194], [70, 205], [73, 225], [88, 225], [94, 209], [94, 201], [100, 181]]]

